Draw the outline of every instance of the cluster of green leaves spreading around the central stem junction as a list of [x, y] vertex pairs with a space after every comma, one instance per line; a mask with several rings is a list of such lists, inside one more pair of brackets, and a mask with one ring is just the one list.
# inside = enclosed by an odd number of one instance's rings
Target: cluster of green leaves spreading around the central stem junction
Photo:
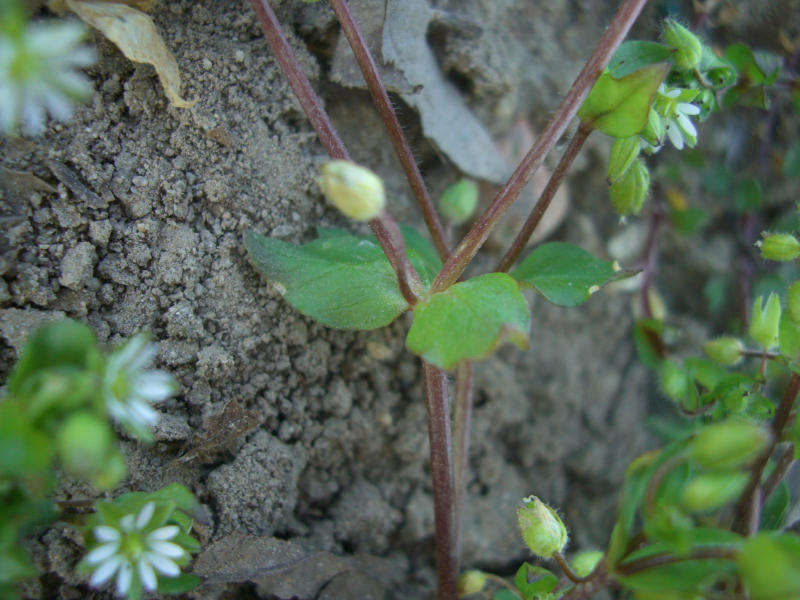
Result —
[[[441, 262], [417, 232], [402, 228], [402, 233], [412, 265], [430, 286]], [[253, 262], [284, 298], [329, 327], [377, 329], [413, 309], [408, 349], [444, 369], [485, 358], [505, 341], [527, 347], [530, 312], [521, 285], [554, 304], [577, 306], [617, 277], [611, 262], [553, 242], [537, 248], [511, 275], [481, 275], [411, 307], [373, 237], [324, 230], [298, 246], [250, 232], [246, 243]]]

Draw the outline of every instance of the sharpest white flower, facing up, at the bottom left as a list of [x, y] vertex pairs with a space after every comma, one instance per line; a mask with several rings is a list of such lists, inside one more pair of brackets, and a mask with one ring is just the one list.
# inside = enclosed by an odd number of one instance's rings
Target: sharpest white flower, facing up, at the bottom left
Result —
[[139, 514], [122, 517], [118, 527], [99, 525], [92, 530], [101, 544], [86, 555], [86, 562], [96, 566], [89, 579], [91, 586], [100, 587], [116, 574], [117, 594], [124, 596], [134, 576], [145, 590], [153, 592], [158, 587], [156, 571], [165, 577], [180, 574], [175, 560], [188, 557], [188, 553], [169, 541], [180, 530], [177, 525], [152, 529], [154, 511], [155, 504], [148, 502]]

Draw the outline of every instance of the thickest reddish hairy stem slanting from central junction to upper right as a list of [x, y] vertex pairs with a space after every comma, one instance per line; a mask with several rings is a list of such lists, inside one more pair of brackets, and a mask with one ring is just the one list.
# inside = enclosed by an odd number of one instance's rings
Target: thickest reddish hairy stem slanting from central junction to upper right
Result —
[[444, 267], [433, 282], [431, 291], [441, 292], [458, 281], [464, 269], [486, 241], [486, 238], [489, 237], [492, 228], [494, 228], [511, 203], [517, 199], [520, 192], [536, 172], [536, 169], [541, 165], [544, 157], [566, 131], [570, 121], [577, 114], [578, 109], [589, 94], [589, 90], [591, 90], [611, 56], [625, 39], [628, 30], [646, 3], [647, 0], [624, 0], [555, 115], [545, 126], [542, 134], [537, 138], [533, 147], [522, 159], [522, 162], [509, 180], [492, 200], [492, 204], [472, 226], [472, 229], [469, 230], [453, 254], [445, 262]]

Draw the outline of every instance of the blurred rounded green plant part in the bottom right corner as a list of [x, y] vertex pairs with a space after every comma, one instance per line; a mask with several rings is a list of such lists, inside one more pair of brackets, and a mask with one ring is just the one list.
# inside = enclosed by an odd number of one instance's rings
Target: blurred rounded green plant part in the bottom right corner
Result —
[[747, 540], [737, 557], [739, 571], [753, 600], [800, 595], [800, 539], [761, 532]]

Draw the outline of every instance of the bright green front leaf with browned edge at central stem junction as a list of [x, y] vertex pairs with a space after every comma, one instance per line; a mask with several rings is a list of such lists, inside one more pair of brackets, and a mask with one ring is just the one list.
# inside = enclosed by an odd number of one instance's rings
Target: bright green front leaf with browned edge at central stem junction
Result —
[[505, 273], [456, 283], [414, 307], [408, 349], [444, 369], [489, 356], [508, 340], [527, 348], [530, 313], [519, 284]]

